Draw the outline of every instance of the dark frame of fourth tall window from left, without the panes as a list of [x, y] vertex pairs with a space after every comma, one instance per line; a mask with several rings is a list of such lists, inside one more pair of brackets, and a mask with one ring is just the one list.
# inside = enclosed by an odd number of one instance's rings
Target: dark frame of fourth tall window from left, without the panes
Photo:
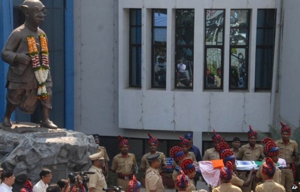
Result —
[[[206, 11], [207, 10], [223, 10], [223, 26], [220, 27], [220, 26], [213, 26], [213, 27], [207, 27], [206, 26]], [[224, 79], [224, 35], [225, 35], [225, 15], [226, 15], [226, 9], [204, 9], [204, 71], [203, 71], [203, 88], [205, 90], [223, 90], [223, 79]], [[207, 28], [220, 28], [222, 29], [223, 28], [223, 42], [222, 42], [222, 45], [206, 45], [206, 29]], [[206, 87], [206, 69], [207, 69], [207, 59], [206, 59], [206, 56], [207, 56], [207, 49], [210, 49], [210, 48], [216, 48], [216, 49], [221, 49], [221, 70], [222, 70], [222, 73], [221, 73], [221, 85], [220, 87]]]

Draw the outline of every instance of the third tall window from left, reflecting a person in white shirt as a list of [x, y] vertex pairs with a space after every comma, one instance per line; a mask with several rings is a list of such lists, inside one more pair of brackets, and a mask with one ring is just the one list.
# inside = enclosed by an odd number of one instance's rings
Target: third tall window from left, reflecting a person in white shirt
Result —
[[175, 87], [193, 88], [194, 10], [176, 9]]

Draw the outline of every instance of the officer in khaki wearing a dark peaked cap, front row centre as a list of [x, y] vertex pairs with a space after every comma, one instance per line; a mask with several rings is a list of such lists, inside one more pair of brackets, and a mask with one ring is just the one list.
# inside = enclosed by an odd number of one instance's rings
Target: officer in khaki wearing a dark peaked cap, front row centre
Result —
[[146, 171], [146, 192], [164, 192], [163, 179], [158, 172], [161, 164], [160, 154], [155, 153], [146, 157], [150, 167]]

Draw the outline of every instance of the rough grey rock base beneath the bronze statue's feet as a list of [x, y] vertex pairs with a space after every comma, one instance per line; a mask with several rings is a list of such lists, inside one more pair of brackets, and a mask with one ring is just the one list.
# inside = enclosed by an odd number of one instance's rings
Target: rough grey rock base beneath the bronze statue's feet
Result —
[[[13, 171], [21, 179], [28, 177], [33, 184], [40, 180], [42, 167], [52, 170], [51, 183], [67, 178], [71, 172], [88, 170], [88, 156], [98, 145], [92, 136], [62, 128], [48, 129], [39, 124], [13, 122], [13, 126], [0, 124], [0, 162], [4, 170]], [[13, 191], [19, 190], [14, 186]]]

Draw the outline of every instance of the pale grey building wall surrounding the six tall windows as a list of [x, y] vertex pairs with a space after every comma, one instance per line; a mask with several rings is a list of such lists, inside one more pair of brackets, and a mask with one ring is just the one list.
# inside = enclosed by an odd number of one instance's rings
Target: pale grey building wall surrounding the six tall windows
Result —
[[[271, 92], [255, 92], [257, 8], [277, 8], [279, 0], [90, 0], [74, 1], [75, 130], [85, 134], [178, 139], [194, 131], [200, 147], [202, 132], [247, 132], [251, 124], [267, 131], [273, 123]], [[143, 9], [143, 84], [129, 88], [129, 8]], [[151, 88], [151, 8], [167, 8], [167, 88]], [[195, 9], [193, 90], [174, 90], [174, 22], [176, 8]], [[204, 9], [226, 9], [224, 89], [203, 90]], [[229, 91], [229, 18], [231, 8], [251, 9], [249, 84], [246, 91]], [[280, 17], [279, 17], [280, 18]], [[279, 22], [277, 18], [277, 23]], [[277, 34], [277, 31], [276, 31]], [[276, 35], [277, 38], [277, 35]], [[278, 49], [275, 43], [275, 51]], [[276, 66], [276, 59], [274, 65]], [[273, 75], [273, 81], [275, 76]], [[272, 92], [275, 91], [272, 89]], [[244, 113], [245, 111], [245, 113]], [[209, 128], [209, 125], [211, 128]], [[243, 125], [243, 126], [242, 126]], [[128, 129], [129, 128], [129, 129]], [[136, 130], [135, 130], [136, 129]], [[156, 131], [154, 131], [156, 130]], [[230, 133], [222, 133], [231, 140]], [[240, 137], [246, 134], [238, 135]]]

